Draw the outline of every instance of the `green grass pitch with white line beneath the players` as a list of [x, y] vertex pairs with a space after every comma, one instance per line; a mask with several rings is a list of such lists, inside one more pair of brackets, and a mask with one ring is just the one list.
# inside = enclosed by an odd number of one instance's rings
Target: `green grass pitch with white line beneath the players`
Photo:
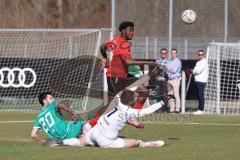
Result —
[[33, 125], [31, 121], [36, 114], [37, 112], [0, 112], [0, 160], [240, 159], [240, 116], [154, 114], [142, 119], [144, 129], [126, 126], [120, 135], [142, 140], [162, 139], [166, 141], [166, 146], [103, 149], [46, 148], [41, 143], [33, 142], [30, 137]]

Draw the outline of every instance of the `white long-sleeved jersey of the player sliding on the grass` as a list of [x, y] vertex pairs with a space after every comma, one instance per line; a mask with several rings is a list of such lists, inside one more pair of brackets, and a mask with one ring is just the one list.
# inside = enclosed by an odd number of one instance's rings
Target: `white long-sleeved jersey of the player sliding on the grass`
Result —
[[108, 113], [102, 115], [97, 123], [99, 132], [109, 139], [115, 139], [118, 131], [121, 130], [126, 122], [137, 117], [151, 114], [162, 107], [163, 102], [159, 102], [144, 109], [134, 109], [118, 102], [118, 105]]

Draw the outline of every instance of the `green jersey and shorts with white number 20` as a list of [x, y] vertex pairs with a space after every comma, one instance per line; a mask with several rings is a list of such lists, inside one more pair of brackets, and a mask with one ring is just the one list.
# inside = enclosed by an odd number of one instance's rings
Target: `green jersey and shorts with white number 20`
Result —
[[52, 139], [76, 138], [82, 132], [85, 121], [66, 121], [57, 111], [58, 102], [46, 105], [37, 115], [34, 128], [42, 128]]

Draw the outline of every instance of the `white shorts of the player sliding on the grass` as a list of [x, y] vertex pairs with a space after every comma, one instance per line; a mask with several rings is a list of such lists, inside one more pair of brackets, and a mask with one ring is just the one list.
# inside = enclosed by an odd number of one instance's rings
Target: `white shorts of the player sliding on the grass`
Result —
[[123, 148], [124, 140], [116, 137], [116, 139], [109, 139], [104, 136], [96, 125], [85, 134], [86, 142], [91, 146], [99, 146], [103, 148]]

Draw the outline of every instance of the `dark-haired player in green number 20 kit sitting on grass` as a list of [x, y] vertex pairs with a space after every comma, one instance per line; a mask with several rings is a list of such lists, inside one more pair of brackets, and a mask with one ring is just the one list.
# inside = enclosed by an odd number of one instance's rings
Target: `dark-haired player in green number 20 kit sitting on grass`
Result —
[[[43, 129], [48, 136], [45, 146], [51, 147], [60, 144], [81, 146], [78, 138], [82, 133], [83, 126], [85, 124], [93, 126], [98, 120], [98, 117], [96, 117], [88, 122], [84, 120], [79, 121], [77, 113], [64, 101], [55, 101], [51, 92], [41, 93], [39, 95], [39, 103], [42, 109], [35, 119], [31, 137], [35, 141], [45, 142], [45, 139], [38, 135], [39, 131]], [[64, 120], [61, 115], [62, 110], [70, 113], [73, 116], [73, 121]], [[96, 114], [101, 114], [101, 112], [102, 110], [99, 110]]]

